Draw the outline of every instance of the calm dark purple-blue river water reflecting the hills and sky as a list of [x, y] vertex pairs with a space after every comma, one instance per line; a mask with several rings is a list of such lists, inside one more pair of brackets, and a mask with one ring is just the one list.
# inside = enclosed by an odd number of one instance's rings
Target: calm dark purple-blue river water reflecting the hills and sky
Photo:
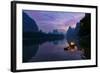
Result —
[[23, 62], [81, 60], [84, 53], [79, 49], [65, 49], [67, 40], [47, 41], [35, 44], [32, 40], [23, 42]]

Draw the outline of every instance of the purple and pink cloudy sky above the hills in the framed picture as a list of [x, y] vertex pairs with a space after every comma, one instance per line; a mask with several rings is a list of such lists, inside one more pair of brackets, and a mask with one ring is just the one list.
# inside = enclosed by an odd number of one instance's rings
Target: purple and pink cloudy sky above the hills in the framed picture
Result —
[[54, 11], [35, 11], [24, 10], [32, 19], [34, 19], [40, 30], [43, 32], [52, 32], [58, 29], [59, 32], [66, 32], [68, 27], [75, 28], [85, 13], [76, 12], [54, 12]]

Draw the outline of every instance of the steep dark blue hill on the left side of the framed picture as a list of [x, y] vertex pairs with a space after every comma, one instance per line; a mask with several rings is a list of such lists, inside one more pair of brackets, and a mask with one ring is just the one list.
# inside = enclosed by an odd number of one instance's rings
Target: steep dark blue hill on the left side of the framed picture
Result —
[[39, 31], [38, 26], [32, 18], [23, 12], [23, 32], [36, 32]]

